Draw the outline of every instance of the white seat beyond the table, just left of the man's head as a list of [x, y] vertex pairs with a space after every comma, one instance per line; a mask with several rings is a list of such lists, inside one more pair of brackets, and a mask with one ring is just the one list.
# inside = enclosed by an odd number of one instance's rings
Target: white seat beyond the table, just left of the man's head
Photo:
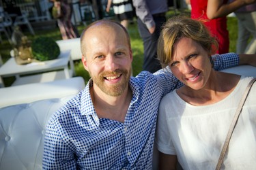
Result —
[[81, 60], [82, 52], [80, 46], [80, 38], [61, 39], [56, 41], [61, 51], [71, 50], [70, 56], [73, 61]]

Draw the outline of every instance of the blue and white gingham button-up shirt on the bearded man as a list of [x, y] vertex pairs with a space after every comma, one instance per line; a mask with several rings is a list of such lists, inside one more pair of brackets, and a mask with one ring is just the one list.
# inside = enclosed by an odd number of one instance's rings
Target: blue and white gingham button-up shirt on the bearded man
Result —
[[[228, 54], [218, 58], [214, 65], [223, 69], [238, 65], [238, 60], [236, 54]], [[182, 84], [166, 69], [154, 75], [143, 71], [130, 78], [132, 101], [124, 123], [98, 118], [89, 93], [91, 86], [90, 80], [49, 120], [43, 168], [152, 169], [160, 99]]]

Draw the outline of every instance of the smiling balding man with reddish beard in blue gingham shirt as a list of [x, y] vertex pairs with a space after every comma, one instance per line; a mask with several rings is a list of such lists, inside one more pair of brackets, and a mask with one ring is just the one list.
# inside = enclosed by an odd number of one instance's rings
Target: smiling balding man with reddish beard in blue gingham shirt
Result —
[[[130, 38], [117, 22], [89, 25], [81, 51], [91, 80], [49, 120], [43, 168], [152, 169], [158, 105], [180, 82], [165, 70], [130, 77]], [[237, 65], [238, 56], [229, 55], [215, 64]]]

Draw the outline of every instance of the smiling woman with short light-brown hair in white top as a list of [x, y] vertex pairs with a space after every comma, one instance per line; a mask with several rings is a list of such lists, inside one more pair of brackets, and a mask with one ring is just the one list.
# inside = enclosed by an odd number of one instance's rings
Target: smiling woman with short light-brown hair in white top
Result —
[[[158, 40], [158, 58], [184, 83], [159, 107], [156, 145], [160, 169], [215, 169], [227, 131], [247, 84], [253, 78], [212, 69], [218, 44], [198, 20], [168, 20]], [[225, 155], [225, 169], [256, 168], [256, 83]], [[171, 112], [170, 112], [171, 110]]]

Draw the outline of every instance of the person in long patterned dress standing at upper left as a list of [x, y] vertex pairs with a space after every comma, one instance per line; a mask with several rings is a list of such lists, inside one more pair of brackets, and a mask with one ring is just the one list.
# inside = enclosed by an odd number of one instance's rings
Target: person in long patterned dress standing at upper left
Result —
[[71, 22], [72, 4], [70, 0], [53, 1], [53, 18], [57, 19], [59, 31], [62, 39], [72, 39], [79, 37], [79, 33]]

